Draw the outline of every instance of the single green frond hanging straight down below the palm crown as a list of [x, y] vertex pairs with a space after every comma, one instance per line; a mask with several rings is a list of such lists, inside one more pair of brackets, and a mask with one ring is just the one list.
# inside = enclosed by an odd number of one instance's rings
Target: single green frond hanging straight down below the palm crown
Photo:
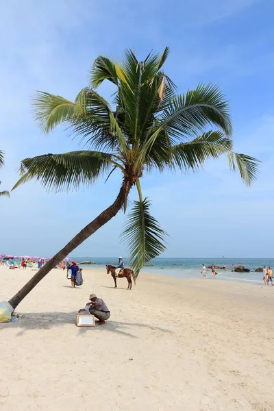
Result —
[[127, 243], [130, 261], [135, 277], [142, 267], [152, 258], [160, 256], [166, 249], [164, 237], [166, 232], [159, 226], [158, 221], [149, 214], [149, 200], [134, 201], [134, 207], [129, 212], [123, 241]]

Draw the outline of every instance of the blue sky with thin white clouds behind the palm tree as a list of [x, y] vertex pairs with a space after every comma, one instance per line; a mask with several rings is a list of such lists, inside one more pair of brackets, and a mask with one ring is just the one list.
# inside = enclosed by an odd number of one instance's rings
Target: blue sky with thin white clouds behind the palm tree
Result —
[[[179, 92], [199, 82], [221, 86], [232, 109], [235, 151], [262, 160], [245, 187], [227, 160], [184, 175], [154, 173], [142, 181], [152, 214], [169, 232], [165, 257], [272, 257], [274, 166], [274, 4], [267, 0], [1, 2], [0, 147], [2, 189], [16, 182], [20, 160], [78, 149], [62, 127], [43, 135], [32, 119], [34, 90], [69, 99], [88, 84], [97, 55], [142, 59], [151, 49], [171, 55], [164, 67]], [[101, 93], [109, 97], [112, 88]], [[1, 199], [0, 252], [51, 256], [112, 203], [121, 175], [69, 194], [29, 182]], [[136, 198], [132, 192], [131, 201]], [[120, 213], [73, 253], [127, 255]]]

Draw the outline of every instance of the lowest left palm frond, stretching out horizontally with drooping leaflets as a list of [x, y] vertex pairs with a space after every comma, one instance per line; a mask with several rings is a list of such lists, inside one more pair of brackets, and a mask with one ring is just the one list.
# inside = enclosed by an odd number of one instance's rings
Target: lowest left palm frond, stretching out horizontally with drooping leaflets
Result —
[[92, 184], [112, 166], [112, 155], [99, 151], [71, 151], [64, 154], [38, 155], [21, 162], [21, 175], [14, 190], [36, 179], [47, 190], [76, 190]]

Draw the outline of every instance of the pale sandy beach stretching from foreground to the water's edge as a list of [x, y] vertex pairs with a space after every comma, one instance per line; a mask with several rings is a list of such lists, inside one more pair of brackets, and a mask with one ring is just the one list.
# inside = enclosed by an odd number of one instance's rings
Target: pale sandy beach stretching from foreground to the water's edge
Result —
[[[0, 301], [34, 272], [0, 267]], [[273, 411], [274, 287], [141, 273], [127, 291], [85, 269], [81, 288], [53, 270], [0, 324], [2, 411]], [[90, 292], [103, 327], [76, 327]]]

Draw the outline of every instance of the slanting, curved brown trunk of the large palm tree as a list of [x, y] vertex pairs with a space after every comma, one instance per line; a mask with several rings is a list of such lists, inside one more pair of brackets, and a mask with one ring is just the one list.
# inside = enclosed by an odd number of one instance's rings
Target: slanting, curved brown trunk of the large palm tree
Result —
[[48, 273], [58, 264], [60, 261], [64, 260], [66, 256], [68, 256], [71, 251], [73, 251], [76, 247], [78, 247], [84, 240], [90, 237], [92, 234], [97, 232], [97, 229], [102, 227], [105, 223], [108, 223], [112, 219], [112, 217], [116, 216], [117, 212], [121, 210], [123, 205], [126, 203], [127, 196], [129, 190], [132, 188], [133, 185], [132, 179], [125, 178], [123, 184], [121, 186], [119, 195], [116, 197], [116, 200], [112, 205], [106, 208], [99, 216], [96, 217], [91, 223], [86, 225], [67, 245], [62, 248], [62, 250], [58, 251], [57, 254], [45, 266], [42, 267], [30, 280], [21, 288], [20, 291], [10, 299], [9, 303], [14, 308], [18, 306], [19, 303], [29, 294], [30, 291], [41, 281]]

